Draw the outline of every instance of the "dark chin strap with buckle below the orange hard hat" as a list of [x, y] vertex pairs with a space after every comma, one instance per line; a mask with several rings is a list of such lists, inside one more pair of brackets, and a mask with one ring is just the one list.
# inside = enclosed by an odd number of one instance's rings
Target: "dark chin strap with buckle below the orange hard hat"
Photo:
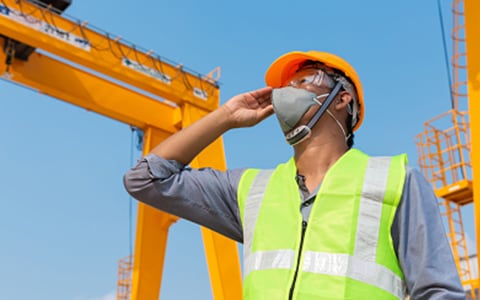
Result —
[[[338, 92], [340, 91], [341, 88], [342, 88], [342, 83], [337, 81], [337, 83], [333, 87], [332, 91], [328, 95], [325, 102], [320, 103], [320, 109], [317, 110], [317, 112], [313, 115], [313, 117], [310, 119], [310, 121], [307, 123], [307, 125], [298, 126], [298, 127], [294, 128], [292, 131], [290, 131], [289, 133], [287, 133], [285, 135], [285, 139], [287, 140], [287, 142], [290, 145], [294, 146], [294, 145], [296, 145], [298, 143], [301, 143], [304, 140], [306, 140], [310, 136], [310, 134], [312, 133], [313, 126], [315, 126], [315, 124], [317, 124], [318, 120], [320, 120], [320, 118], [323, 116], [325, 111], [327, 111], [328, 114], [330, 114], [330, 116], [332, 116], [335, 119], [337, 124], [342, 129], [342, 132], [345, 136], [345, 139], [348, 139], [348, 137], [346, 136], [346, 133], [345, 133], [345, 129], [343, 129], [343, 126], [332, 115], [332, 113], [327, 110], [328, 107], [330, 106], [330, 103], [332, 103], [333, 99], [335, 98], [335, 96], [337, 96], [337, 94], [338, 94]], [[317, 99], [314, 99], [314, 100], [315, 100], [315, 102], [318, 102]]]

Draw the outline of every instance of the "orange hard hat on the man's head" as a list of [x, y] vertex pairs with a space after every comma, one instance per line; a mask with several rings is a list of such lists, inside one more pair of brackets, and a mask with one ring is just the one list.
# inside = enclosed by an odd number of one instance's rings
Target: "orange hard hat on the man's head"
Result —
[[[363, 103], [363, 90], [360, 82], [360, 77], [355, 72], [355, 69], [343, 58], [320, 51], [293, 51], [288, 52], [277, 58], [268, 68], [265, 73], [265, 82], [268, 86], [279, 88], [285, 86], [287, 80], [307, 61], [318, 61], [332, 69], [341, 71], [343, 75], [351, 81], [355, 87], [356, 96], [354, 95], [356, 105], [358, 107], [358, 118], [353, 124], [353, 131], [360, 127], [364, 118], [365, 107]], [[340, 74], [342, 75], [342, 74]], [[355, 116], [354, 116], [355, 118]]]

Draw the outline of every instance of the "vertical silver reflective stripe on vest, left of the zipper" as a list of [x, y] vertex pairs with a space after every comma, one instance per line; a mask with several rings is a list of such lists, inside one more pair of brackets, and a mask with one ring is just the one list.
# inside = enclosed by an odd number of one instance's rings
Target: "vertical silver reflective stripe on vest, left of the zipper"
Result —
[[[261, 262], [261, 258], [252, 257], [253, 232], [257, 224], [258, 213], [262, 204], [263, 196], [267, 188], [268, 181], [274, 170], [260, 170], [253, 179], [252, 186], [248, 191], [243, 210], [243, 257], [244, 257], [244, 277], [252, 270], [255, 270], [257, 264], [266, 265]], [[261, 255], [259, 255], [261, 257]], [[270, 257], [267, 255], [265, 257]], [[272, 262], [272, 261], [270, 261]], [[252, 264], [253, 263], [253, 264]]]

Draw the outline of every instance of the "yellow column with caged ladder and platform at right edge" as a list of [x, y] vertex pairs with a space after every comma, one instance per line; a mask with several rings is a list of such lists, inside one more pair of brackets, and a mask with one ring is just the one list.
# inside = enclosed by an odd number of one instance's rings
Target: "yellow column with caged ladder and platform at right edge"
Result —
[[[461, 208], [473, 205], [480, 253], [480, 3], [453, 0], [451, 110], [425, 122], [416, 136], [419, 167], [432, 183], [446, 221], [464, 288], [478, 299], [478, 263], [471, 265]], [[468, 68], [467, 68], [468, 66]], [[477, 260], [478, 261], [478, 260]]]

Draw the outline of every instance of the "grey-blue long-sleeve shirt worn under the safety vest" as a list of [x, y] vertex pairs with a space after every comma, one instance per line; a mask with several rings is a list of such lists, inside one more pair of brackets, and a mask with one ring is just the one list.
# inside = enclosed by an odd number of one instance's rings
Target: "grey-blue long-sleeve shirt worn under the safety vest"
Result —
[[[125, 174], [124, 184], [145, 204], [243, 242], [237, 187], [244, 171], [190, 169], [150, 154]], [[465, 299], [436, 197], [409, 167], [391, 236], [411, 299]]]

